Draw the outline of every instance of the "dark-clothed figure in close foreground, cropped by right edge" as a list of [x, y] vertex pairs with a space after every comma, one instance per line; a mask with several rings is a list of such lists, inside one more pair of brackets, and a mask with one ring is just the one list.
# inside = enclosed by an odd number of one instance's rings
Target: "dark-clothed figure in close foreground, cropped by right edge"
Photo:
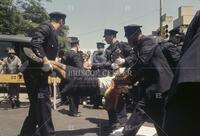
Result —
[[164, 130], [169, 136], [189, 136], [199, 133], [200, 96], [200, 11], [192, 19], [182, 47], [169, 92]]

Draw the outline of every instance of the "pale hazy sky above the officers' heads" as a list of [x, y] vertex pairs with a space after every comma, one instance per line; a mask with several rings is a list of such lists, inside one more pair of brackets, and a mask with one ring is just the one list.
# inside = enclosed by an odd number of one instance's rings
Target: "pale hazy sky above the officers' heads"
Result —
[[[44, 2], [48, 12], [61, 11], [67, 14], [69, 36], [76, 36], [84, 50], [96, 49], [96, 42], [105, 42], [104, 29], [118, 31], [119, 41], [126, 41], [124, 26], [142, 25], [144, 34], [149, 35], [159, 27], [160, 0], [52, 0]], [[180, 6], [200, 9], [200, 0], [163, 0], [163, 13], [178, 17]]]

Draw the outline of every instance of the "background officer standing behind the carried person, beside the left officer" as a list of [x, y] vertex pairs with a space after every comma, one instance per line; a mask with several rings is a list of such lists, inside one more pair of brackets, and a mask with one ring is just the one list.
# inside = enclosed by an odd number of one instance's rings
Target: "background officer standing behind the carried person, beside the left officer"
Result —
[[[79, 40], [77, 37], [69, 37], [69, 42], [71, 44], [71, 49], [63, 56], [62, 63], [83, 69], [83, 62], [81, 55], [79, 53]], [[75, 84], [74, 84], [75, 86]], [[65, 94], [62, 94], [65, 96]], [[69, 115], [74, 117], [79, 117], [78, 107], [80, 103], [80, 97], [76, 93], [72, 93], [69, 96]]]

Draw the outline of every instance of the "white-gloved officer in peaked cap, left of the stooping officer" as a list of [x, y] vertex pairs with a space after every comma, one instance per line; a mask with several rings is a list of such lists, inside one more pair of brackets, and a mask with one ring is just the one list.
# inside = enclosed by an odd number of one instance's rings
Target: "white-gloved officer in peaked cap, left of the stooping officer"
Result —
[[[116, 37], [117, 33], [118, 33], [117, 31], [112, 29], [104, 30], [105, 41], [107, 42], [107, 44], [109, 44], [109, 47], [106, 48], [105, 50], [105, 57], [107, 59], [105, 67], [110, 70], [119, 67], [129, 67], [131, 64], [131, 54], [133, 50], [126, 43], [119, 42], [117, 40]], [[120, 58], [119, 64], [115, 63], [116, 58], [120, 57], [115, 55], [115, 51], [117, 50], [120, 50], [121, 51], [120, 54], [121, 56], [123, 56], [123, 58]], [[109, 123], [112, 129], [121, 127], [126, 123], [127, 121], [126, 105], [122, 95], [119, 97], [116, 110], [108, 111], [108, 116], [109, 116]]]

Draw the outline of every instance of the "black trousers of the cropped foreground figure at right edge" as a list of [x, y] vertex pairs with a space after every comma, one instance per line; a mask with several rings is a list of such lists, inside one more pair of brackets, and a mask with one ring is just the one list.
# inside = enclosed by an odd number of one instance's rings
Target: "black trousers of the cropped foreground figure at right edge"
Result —
[[178, 86], [167, 104], [164, 130], [169, 136], [199, 135], [200, 83], [185, 83]]

